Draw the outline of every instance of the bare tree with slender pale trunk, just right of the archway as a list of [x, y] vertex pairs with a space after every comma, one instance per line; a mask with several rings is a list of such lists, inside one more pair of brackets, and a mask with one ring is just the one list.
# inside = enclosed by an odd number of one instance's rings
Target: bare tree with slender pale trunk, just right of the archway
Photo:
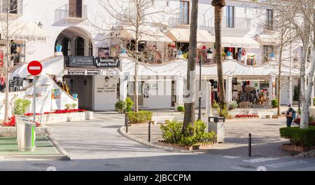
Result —
[[[135, 61], [134, 66], [134, 111], [139, 110], [139, 88], [138, 88], [138, 70], [139, 62], [144, 62], [144, 56], [148, 53], [148, 48], [139, 49], [140, 41], [144, 37], [159, 37], [157, 27], [160, 25], [157, 18], [172, 11], [166, 11], [164, 6], [155, 6], [162, 2], [152, 0], [118, 0], [113, 3], [111, 0], [99, 0], [99, 4], [104, 8], [111, 18], [116, 20], [115, 32], [130, 32], [133, 38], [120, 38], [118, 44], [121, 48], [127, 50], [127, 54]], [[118, 25], [118, 26], [117, 26]]]

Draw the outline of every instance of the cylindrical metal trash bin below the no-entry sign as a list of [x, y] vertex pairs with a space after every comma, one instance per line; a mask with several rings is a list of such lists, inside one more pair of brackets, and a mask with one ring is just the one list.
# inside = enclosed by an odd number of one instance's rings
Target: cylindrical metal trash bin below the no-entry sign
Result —
[[17, 140], [19, 151], [34, 151], [36, 149], [36, 124], [25, 117], [17, 118]]

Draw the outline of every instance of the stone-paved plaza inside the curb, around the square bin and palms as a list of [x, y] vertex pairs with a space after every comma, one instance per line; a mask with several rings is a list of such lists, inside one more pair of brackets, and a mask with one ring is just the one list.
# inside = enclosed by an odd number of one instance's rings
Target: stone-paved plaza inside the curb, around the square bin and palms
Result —
[[[297, 152], [281, 149], [288, 142], [279, 135], [279, 128], [286, 126], [285, 118], [234, 118], [225, 123], [225, 142], [211, 149], [196, 152], [221, 156], [248, 156], [248, 133], [252, 134], [252, 156], [282, 157], [295, 156]], [[148, 141], [148, 125], [130, 126], [128, 134]], [[162, 140], [160, 124], [151, 125], [151, 142]]]

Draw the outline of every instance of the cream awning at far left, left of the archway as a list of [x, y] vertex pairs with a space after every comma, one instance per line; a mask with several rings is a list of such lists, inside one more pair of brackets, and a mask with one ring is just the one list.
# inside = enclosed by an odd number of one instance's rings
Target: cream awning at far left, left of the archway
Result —
[[[20, 41], [47, 41], [47, 34], [34, 22], [10, 22], [9, 38]], [[6, 39], [7, 27], [0, 25], [1, 39]]]

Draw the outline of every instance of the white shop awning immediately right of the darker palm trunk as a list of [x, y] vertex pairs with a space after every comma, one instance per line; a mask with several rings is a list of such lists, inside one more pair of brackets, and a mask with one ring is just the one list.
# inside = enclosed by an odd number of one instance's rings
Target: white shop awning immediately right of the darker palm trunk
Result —
[[259, 49], [259, 43], [250, 37], [222, 36], [222, 46], [231, 48], [255, 48]]

